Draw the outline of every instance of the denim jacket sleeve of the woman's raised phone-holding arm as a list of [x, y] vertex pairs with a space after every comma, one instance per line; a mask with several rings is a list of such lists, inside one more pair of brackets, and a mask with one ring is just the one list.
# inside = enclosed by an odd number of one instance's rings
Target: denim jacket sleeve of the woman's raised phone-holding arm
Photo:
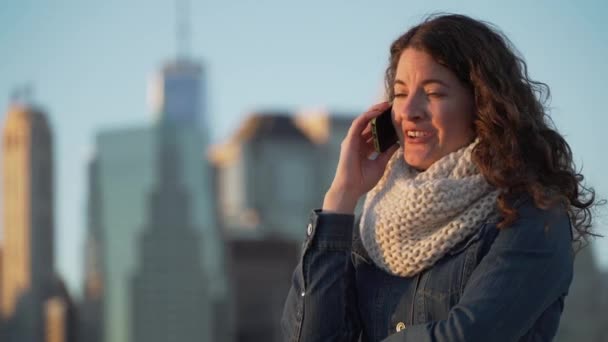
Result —
[[356, 341], [353, 215], [312, 212], [283, 309], [282, 341]]

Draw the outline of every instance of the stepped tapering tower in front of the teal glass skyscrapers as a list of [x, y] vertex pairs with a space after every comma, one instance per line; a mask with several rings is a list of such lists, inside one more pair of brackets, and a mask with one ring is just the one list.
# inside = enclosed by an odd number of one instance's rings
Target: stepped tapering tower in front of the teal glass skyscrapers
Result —
[[213, 307], [199, 260], [176, 130], [159, 126], [157, 183], [148, 197], [148, 222], [136, 246], [139, 267], [131, 287], [132, 342], [212, 341]]

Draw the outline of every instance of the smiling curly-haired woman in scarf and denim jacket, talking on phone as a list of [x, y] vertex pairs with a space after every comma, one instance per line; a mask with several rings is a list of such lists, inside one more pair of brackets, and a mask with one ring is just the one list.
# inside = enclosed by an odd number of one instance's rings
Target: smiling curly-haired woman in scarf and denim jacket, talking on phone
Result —
[[368, 158], [388, 103], [352, 123], [285, 341], [550, 341], [594, 193], [549, 125], [546, 85], [488, 24], [444, 15], [392, 44], [386, 87], [400, 147]]

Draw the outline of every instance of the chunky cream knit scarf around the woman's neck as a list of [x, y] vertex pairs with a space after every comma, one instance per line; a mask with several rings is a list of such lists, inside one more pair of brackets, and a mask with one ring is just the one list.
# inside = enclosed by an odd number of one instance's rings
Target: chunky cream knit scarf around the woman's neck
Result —
[[496, 215], [498, 190], [471, 161], [477, 141], [419, 172], [400, 148], [367, 194], [361, 240], [377, 266], [410, 277], [439, 260]]

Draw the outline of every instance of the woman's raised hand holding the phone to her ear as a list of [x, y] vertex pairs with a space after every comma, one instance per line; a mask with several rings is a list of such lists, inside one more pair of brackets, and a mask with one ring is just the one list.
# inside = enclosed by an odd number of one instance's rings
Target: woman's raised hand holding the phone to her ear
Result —
[[388, 107], [388, 102], [374, 105], [351, 124], [342, 141], [336, 175], [325, 194], [324, 211], [354, 213], [359, 198], [371, 190], [384, 174], [386, 164], [399, 147], [393, 145], [374, 160], [370, 159], [376, 153], [370, 121]]

